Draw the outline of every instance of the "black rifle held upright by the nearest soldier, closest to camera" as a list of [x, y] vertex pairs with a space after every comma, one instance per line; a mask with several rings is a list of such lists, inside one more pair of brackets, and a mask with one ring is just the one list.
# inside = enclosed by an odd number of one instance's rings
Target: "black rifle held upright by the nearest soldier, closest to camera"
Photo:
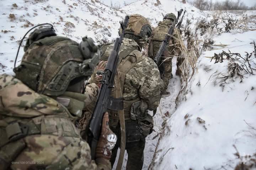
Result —
[[116, 38], [113, 50], [108, 57], [108, 62], [100, 82], [101, 88], [97, 97], [88, 132], [88, 143], [91, 147], [92, 159], [95, 159], [96, 146], [101, 134], [103, 115], [107, 109], [115, 111], [123, 109], [123, 100], [121, 98], [111, 97], [111, 89], [114, 87], [114, 77], [117, 72], [119, 60], [118, 53], [124, 38], [124, 30], [127, 27], [128, 21], [129, 16], [126, 16], [124, 22], [119, 22], [121, 24], [122, 34], [119, 38]]

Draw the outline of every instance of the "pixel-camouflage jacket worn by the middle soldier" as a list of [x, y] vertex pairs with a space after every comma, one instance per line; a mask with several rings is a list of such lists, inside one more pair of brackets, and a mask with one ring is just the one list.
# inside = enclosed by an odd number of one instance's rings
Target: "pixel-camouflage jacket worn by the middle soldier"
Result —
[[[113, 44], [103, 45], [104, 53], [101, 60], [107, 60], [112, 49]], [[160, 73], [154, 61], [143, 56], [139, 50], [140, 47], [134, 40], [124, 38], [119, 51], [118, 72], [121, 72], [127, 60], [137, 63], [124, 75], [122, 95], [124, 101], [133, 101], [138, 98], [144, 100], [148, 104], [148, 109], [154, 110], [160, 102]]]

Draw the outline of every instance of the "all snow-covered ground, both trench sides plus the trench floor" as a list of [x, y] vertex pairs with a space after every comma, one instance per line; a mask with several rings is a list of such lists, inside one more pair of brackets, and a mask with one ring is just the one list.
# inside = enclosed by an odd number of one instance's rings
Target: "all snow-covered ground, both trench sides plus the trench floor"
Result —
[[[16, 51], [22, 36], [39, 23], [52, 23], [58, 35], [78, 42], [85, 35], [96, 41], [111, 41], [118, 36], [119, 21], [125, 15], [139, 13], [155, 27], [166, 13], [176, 14], [183, 8], [187, 10], [183, 24], [190, 21], [194, 38], [203, 42], [210, 31], [206, 29], [206, 34], [200, 35], [196, 23], [212, 19], [209, 12], [201, 12], [190, 4], [183, 4], [181, 0], [160, 0], [160, 3], [156, 0], [139, 0], [116, 10], [97, 0], [1, 0], [0, 6], [0, 73], [8, 74], [13, 74]], [[254, 19], [256, 11], [246, 14]], [[250, 26], [253, 27], [253, 24]], [[219, 54], [222, 50], [241, 53], [244, 58], [245, 51], [251, 53], [254, 50], [250, 43], [255, 39], [256, 31], [215, 35], [215, 45], [228, 46], [213, 46], [211, 51], [202, 53], [196, 72], [185, 89], [189, 93], [176, 111], [175, 100], [181, 83], [180, 78], [175, 76], [176, 58], [173, 59], [174, 78], [168, 87], [171, 95], [161, 99], [154, 117], [156, 132], [147, 137], [143, 170], [148, 169], [152, 158], [149, 169], [153, 170], [234, 169], [239, 161], [244, 160], [244, 156], [256, 152], [256, 130], [253, 129], [256, 128], [255, 75], [246, 74], [241, 83], [240, 78], [235, 76], [225, 83], [221, 77], [230, 73], [227, 67], [231, 61], [210, 62], [214, 53]], [[22, 55], [23, 49], [20, 50], [17, 65]], [[255, 68], [255, 56], [252, 55], [250, 60], [251, 67]], [[255, 70], [252, 71], [255, 74]], [[234, 155], [237, 151], [240, 159]], [[126, 160], [127, 155], [123, 169]]]

